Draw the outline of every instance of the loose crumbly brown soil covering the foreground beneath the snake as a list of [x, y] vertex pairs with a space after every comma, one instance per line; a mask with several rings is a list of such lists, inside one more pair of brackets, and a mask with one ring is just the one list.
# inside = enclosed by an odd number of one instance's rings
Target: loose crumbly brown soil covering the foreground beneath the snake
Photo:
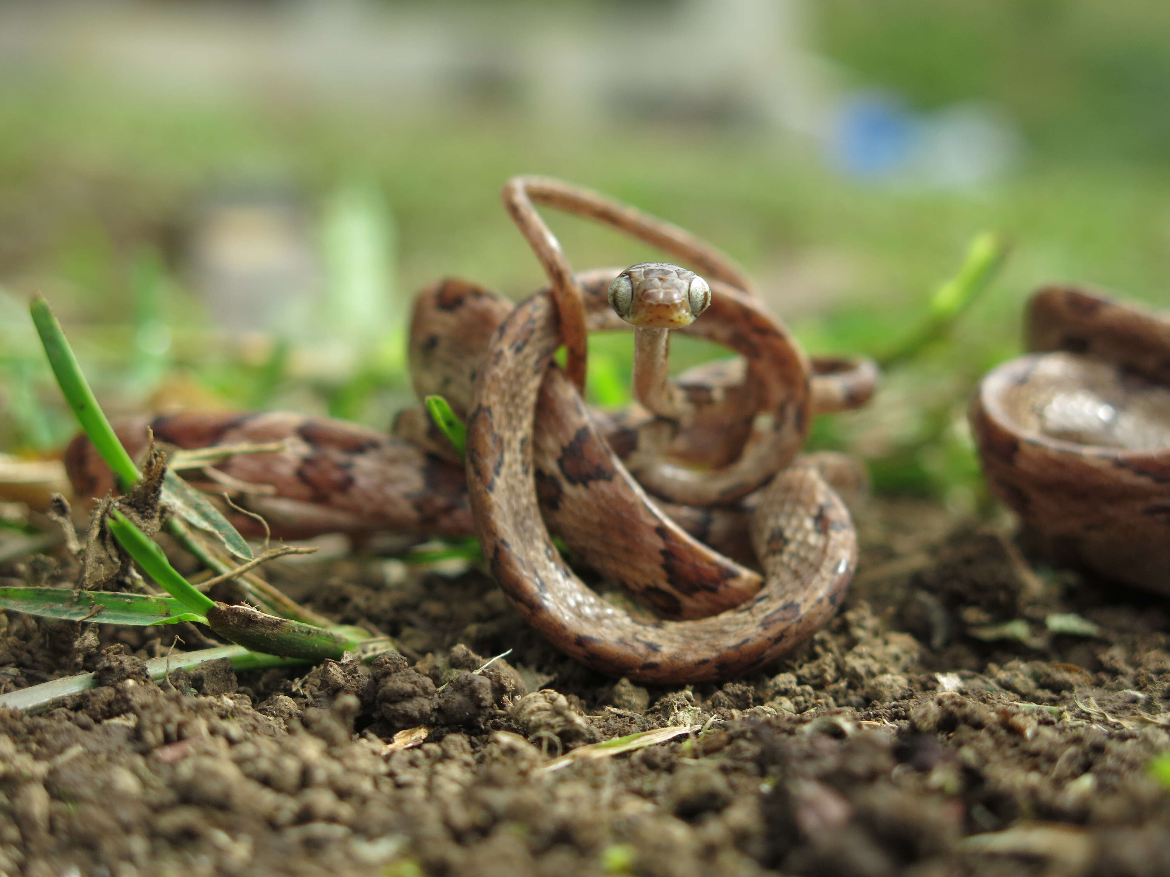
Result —
[[[1149, 771], [1170, 748], [1165, 602], [1038, 573], [1004, 533], [925, 502], [875, 500], [860, 531], [841, 614], [723, 685], [603, 677], [481, 573], [377, 558], [270, 568], [398, 637], [405, 657], [370, 667], [212, 665], [159, 685], [142, 658], [174, 628], [0, 615], [0, 691], [102, 683], [0, 712], [0, 875], [1170, 873], [1170, 789]], [[68, 576], [58, 562], [0, 576]], [[545, 768], [668, 725], [702, 730]]]

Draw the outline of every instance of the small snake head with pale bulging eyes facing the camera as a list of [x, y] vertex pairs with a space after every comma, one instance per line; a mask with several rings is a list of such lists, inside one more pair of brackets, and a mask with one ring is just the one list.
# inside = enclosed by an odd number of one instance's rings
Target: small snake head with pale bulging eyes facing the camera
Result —
[[640, 329], [689, 326], [710, 303], [707, 281], [667, 262], [631, 265], [610, 284], [610, 306]]

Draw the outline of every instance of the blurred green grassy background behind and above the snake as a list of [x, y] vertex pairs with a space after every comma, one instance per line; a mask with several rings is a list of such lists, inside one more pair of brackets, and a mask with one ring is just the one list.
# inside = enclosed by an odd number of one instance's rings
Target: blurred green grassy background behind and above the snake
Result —
[[[959, 510], [985, 498], [965, 399], [1018, 351], [1024, 297], [1076, 281], [1166, 301], [1152, 0], [5, 4], [0, 72], [0, 449], [26, 456], [73, 431], [36, 290], [112, 414], [385, 427], [411, 401], [413, 290], [542, 283], [498, 200], [516, 173], [707, 237], [814, 352], [888, 350], [1000, 232], [1011, 256], [950, 337], [814, 435], [880, 489]], [[550, 222], [578, 268], [649, 255]], [[596, 351], [622, 386], [628, 338]]]

